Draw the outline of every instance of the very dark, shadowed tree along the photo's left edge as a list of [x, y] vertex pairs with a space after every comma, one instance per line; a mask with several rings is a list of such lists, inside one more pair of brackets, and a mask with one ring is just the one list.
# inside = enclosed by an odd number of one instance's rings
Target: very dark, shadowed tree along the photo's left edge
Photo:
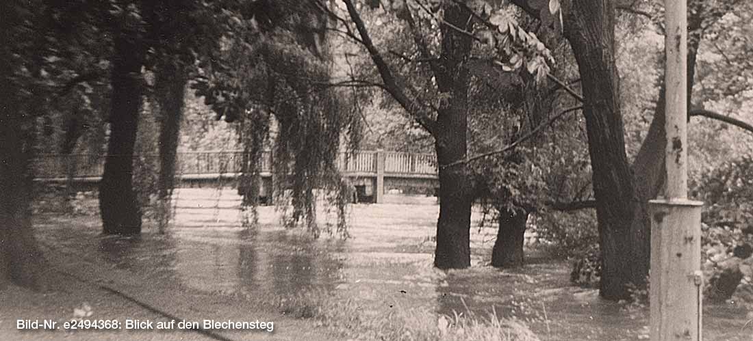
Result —
[[44, 260], [31, 220], [35, 119], [50, 98], [43, 61], [46, 6], [0, 4], [0, 288], [9, 282], [41, 285]]

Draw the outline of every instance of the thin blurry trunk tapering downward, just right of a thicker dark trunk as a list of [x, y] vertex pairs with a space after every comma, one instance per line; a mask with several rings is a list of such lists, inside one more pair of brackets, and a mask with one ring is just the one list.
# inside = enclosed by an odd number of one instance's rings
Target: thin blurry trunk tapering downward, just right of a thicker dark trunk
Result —
[[187, 84], [185, 72], [172, 65], [157, 70], [157, 101], [160, 104], [160, 174], [157, 191], [160, 200], [159, 228], [164, 232], [171, 216], [172, 189], [175, 187], [175, 157]]

